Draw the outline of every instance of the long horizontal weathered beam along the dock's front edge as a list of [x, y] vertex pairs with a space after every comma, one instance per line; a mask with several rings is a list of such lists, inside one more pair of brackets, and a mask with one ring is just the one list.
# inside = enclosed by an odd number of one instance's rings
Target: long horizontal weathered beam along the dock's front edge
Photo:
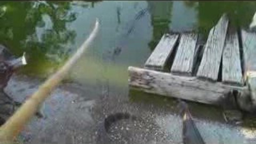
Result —
[[129, 66], [129, 86], [147, 93], [160, 94], [206, 104], [220, 104], [231, 90], [242, 87], [207, 82], [192, 76], [177, 76]]

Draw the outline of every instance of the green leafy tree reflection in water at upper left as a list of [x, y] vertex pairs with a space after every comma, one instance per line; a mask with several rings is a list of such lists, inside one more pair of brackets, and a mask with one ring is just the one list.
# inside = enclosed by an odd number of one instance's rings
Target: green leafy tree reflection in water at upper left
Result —
[[29, 65], [24, 71], [44, 73], [52, 62], [66, 58], [70, 51], [67, 47], [74, 43], [76, 36], [66, 28], [77, 17], [70, 11], [70, 1], [1, 1], [0, 7], [6, 7], [6, 13], [1, 16], [1, 43], [16, 55], [26, 51]]

